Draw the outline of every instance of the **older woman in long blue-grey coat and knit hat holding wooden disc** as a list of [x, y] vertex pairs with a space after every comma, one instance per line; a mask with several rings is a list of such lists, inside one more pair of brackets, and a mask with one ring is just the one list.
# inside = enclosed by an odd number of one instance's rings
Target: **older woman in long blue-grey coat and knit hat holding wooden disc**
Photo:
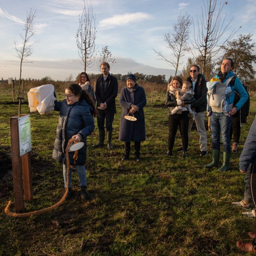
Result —
[[[121, 123], [119, 129], [119, 140], [125, 142], [125, 154], [122, 160], [129, 160], [131, 141], [134, 141], [135, 159], [140, 158], [140, 142], [145, 141], [145, 116], [143, 107], [146, 105], [146, 95], [143, 87], [136, 83], [134, 74], [128, 74], [125, 78], [127, 87], [120, 93], [120, 105], [122, 106]], [[136, 121], [129, 121], [124, 118], [128, 113], [137, 118]]]

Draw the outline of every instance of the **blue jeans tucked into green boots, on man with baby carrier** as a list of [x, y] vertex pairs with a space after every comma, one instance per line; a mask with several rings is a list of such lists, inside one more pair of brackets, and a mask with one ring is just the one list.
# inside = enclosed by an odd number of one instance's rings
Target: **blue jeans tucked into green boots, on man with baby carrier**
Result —
[[212, 131], [212, 149], [220, 150], [220, 137], [224, 152], [231, 151], [230, 127], [232, 116], [226, 116], [222, 112], [212, 112], [210, 116], [210, 126]]

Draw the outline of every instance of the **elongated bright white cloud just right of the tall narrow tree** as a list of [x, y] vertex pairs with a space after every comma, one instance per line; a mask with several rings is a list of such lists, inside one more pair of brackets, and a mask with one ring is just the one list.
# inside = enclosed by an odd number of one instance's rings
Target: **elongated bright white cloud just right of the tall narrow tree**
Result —
[[130, 23], [148, 20], [150, 18], [151, 18], [151, 15], [148, 15], [143, 12], [128, 13], [124, 15], [115, 15], [111, 18], [101, 20], [99, 22], [99, 28], [113, 28], [116, 26], [124, 26]]

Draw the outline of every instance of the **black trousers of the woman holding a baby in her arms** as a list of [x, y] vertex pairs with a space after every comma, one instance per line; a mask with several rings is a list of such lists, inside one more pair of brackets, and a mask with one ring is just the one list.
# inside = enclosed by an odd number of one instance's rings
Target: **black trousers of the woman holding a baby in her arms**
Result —
[[180, 128], [180, 135], [182, 141], [182, 149], [186, 151], [189, 145], [189, 111], [182, 111], [182, 113], [169, 115], [169, 136], [168, 136], [168, 150], [172, 152], [175, 137], [178, 127]]

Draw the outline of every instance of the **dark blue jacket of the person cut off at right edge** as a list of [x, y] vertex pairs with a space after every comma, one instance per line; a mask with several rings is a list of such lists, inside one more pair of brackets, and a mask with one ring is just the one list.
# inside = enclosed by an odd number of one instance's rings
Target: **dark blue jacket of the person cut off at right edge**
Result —
[[239, 169], [246, 172], [250, 163], [256, 165], [256, 118], [244, 143], [244, 149], [239, 158]]

